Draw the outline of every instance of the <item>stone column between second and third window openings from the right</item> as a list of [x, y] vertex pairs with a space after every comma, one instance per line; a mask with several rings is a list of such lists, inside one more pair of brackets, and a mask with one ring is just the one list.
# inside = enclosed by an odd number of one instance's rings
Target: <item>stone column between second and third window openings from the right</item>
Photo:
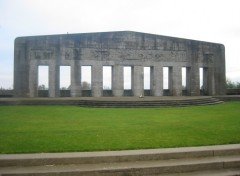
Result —
[[182, 67], [172, 67], [172, 95], [182, 96]]

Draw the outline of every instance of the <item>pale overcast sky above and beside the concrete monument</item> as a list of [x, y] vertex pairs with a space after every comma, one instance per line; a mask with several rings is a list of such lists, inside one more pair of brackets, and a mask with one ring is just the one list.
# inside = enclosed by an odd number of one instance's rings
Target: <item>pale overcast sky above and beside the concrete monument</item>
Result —
[[18, 36], [125, 30], [222, 43], [240, 82], [239, 0], [0, 0], [0, 87], [13, 86]]

